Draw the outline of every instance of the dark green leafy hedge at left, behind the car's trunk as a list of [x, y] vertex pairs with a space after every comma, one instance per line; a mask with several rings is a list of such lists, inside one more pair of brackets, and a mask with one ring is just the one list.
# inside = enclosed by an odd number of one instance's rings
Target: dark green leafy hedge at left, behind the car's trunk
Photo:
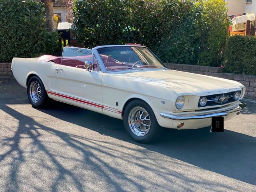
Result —
[[0, 61], [52, 54], [58, 34], [46, 29], [44, 4], [35, 0], [0, 0]]

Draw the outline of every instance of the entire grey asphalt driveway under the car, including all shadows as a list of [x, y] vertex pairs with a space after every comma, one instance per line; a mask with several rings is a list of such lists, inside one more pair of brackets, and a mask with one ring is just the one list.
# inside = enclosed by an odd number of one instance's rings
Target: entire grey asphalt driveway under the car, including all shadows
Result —
[[256, 191], [256, 104], [224, 133], [166, 130], [133, 142], [121, 120], [55, 102], [38, 110], [0, 84], [0, 192]]

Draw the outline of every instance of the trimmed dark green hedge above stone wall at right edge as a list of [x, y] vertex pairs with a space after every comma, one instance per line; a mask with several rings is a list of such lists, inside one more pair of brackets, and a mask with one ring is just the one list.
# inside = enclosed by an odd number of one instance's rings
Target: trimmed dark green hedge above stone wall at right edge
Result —
[[226, 72], [256, 75], [256, 37], [232, 36], [228, 39], [224, 55]]

